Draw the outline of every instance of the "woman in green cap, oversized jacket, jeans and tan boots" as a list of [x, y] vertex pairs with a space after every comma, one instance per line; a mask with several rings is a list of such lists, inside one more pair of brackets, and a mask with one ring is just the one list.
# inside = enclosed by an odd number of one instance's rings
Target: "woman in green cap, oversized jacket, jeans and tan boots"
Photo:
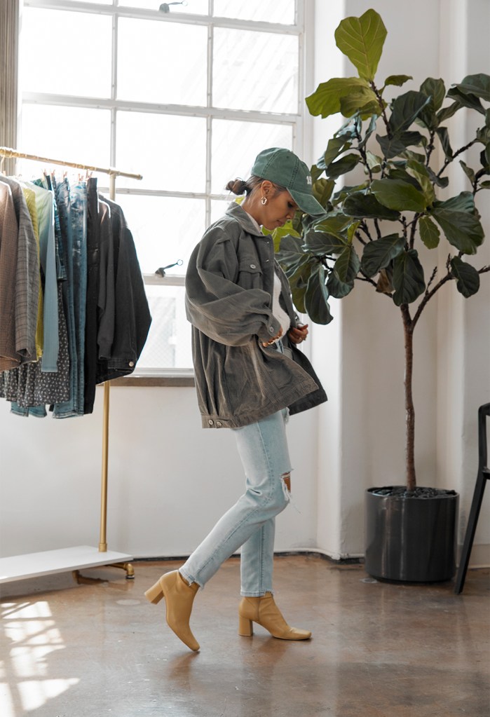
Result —
[[296, 348], [308, 326], [297, 323], [273, 240], [260, 225], [273, 230], [298, 209], [312, 215], [324, 209], [312, 194], [308, 167], [287, 149], [260, 152], [252, 174], [247, 182], [228, 184], [235, 194], [245, 191], [245, 200], [207, 229], [186, 277], [202, 426], [233, 430], [246, 490], [185, 564], [145, 593], [154, 603], [165, 597], [166, 622], [191, 650], [199, 650], [189, 627], [195, 594], [240, 546], [239, 634], [252, 635], [257, 622], [282, 640], [311, 637], [289, 627], [275, 605], [274, 529], [291, 486], [288, 413], [316, 406], [326, 395]]

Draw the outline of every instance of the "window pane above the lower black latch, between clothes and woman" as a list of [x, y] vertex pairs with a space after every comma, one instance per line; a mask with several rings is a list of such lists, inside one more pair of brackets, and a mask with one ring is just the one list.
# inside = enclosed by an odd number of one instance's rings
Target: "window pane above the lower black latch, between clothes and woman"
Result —
[[143, 274], [154, 274], [160, 267], [183, 276], [189, 255], [204, 234], [204, 200], [161, 196], [118, 194], [128, 227], [134, 237]]

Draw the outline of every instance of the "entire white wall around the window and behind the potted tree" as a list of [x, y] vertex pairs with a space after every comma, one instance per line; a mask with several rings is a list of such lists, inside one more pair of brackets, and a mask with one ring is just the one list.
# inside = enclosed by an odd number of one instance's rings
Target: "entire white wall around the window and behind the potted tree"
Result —
[[[334, 29], [368, 7], [388, 29], [382, 78], [411, 74], [407, 89], [429, 75], [449, 85], [490, 66], [486, 0], [318, 0], [308, 92], [351, 74]], [[338, 125], [339, 118], [311, 121], [307, 161]], [[488, 208], [484, 221], [490, 235]], [[487, 239], [486, 262], [489, 251]], [[462, 540], [476, 475], [476, 408], [490, 401], [490, 276], [467, 301], [447, 289], [415, 335], [416, 462], [420, 484], [461, 492]], [[363, 552], [365, 488], [403, 481], [403, 356], [401, 321], [388, 299], [358, 287], [332, 310], [334, 322], [314, 327], [308, 342], [329, 402], [289, 424], [300, 512], [279, 516], [276, 548], [316, 547], [339, 558]], [[187, 554], [242, 490], [232, 434], [200, 428], [194, 389], [113, 386], [110, 396], [108, 546], [134, 556]], [[81, 419], [21, 419], [0, 402], [1, 556], [98, 545], [101, 433], [101, 389], [95, 413]], [[487, 501], [473, 562], [490, 561], [488, 517]]]

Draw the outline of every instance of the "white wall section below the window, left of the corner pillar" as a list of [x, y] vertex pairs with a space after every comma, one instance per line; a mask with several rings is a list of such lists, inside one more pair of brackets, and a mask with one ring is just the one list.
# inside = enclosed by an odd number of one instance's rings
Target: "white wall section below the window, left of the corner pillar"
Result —
[[[0, 555], [99, 542], [103, 391], [77, 419], [20, 418], [0, 404]], [[292, 417], [293, 508], [278, 550], [314, 546], [314, 411]], [[234, 438], [203, 430], [194, 389], [110, 389], [108, 547], [181, 556], [242, 492]]]

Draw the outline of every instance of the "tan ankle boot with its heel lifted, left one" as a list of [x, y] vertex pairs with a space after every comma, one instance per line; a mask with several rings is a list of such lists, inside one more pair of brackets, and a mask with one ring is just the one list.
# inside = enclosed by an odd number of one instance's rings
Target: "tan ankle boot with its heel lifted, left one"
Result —
[[172, 570], [162, 575], [145, 593], [146, 599], [154, 604], [165, 598], [167, 625], [194, 652], [199, 650], [199, 642], [192, 635], [189, 619], [198, 589], [197, 583], [188, 585], [178, 570]]

